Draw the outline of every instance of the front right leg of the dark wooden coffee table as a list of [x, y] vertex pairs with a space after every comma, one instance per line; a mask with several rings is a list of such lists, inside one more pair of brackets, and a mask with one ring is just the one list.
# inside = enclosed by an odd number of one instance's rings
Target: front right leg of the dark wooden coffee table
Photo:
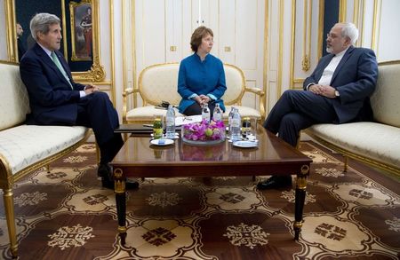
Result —
[[306, 200], [306, 187], [309, 166], [303, 165], [300, 174], [297, 175], [296, 180], [296, 195], [294, 204], [294, 239], [299, 240], [301, 226], [303, 225], [303, 208], [304, 201]]

